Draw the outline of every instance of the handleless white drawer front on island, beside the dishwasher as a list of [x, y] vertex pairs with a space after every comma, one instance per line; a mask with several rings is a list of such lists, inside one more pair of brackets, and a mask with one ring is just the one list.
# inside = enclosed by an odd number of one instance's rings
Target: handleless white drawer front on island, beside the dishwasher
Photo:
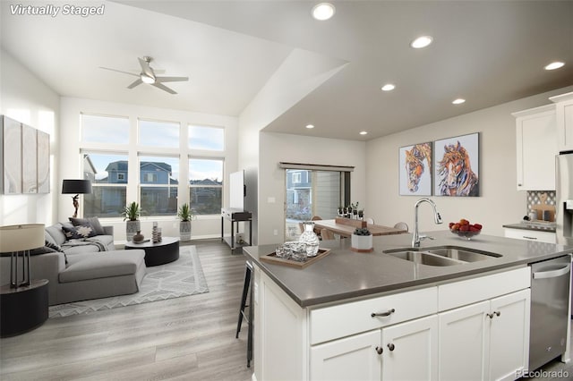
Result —
[[531, 268], [523, 267], [503, 273], [480, 276], [438, 286], [440, 311], [455, 309], [477, 301], [485, 301], [531, 285]]

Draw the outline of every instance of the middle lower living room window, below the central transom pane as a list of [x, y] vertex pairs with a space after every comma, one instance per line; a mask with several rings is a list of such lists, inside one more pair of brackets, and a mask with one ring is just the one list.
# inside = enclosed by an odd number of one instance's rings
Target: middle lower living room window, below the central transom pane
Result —
[[178, 184], [178, 157], [140, 157], [141, 212], [145, 216], [175, 216]]

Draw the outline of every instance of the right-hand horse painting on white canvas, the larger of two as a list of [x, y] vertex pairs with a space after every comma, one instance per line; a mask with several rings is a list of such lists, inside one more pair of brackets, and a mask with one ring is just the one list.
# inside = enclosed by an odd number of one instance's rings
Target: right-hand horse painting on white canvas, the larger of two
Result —
[[434, 141], [434, 195], [476, 197], [479, 187], [479, 132]]

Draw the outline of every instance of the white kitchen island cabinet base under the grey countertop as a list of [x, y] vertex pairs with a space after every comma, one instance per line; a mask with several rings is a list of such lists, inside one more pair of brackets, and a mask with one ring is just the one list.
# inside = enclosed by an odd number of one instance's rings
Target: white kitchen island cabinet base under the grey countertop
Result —
[[254, 379], [511, 379], [528, 361], [530, 269], [309, 309], [255, 267]]

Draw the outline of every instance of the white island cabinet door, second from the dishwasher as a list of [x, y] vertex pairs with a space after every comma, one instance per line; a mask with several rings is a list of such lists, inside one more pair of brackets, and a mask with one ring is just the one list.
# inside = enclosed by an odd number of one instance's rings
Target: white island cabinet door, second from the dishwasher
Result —
[[[483, 380], [488, 321], [485, 314], [490, 301], [439, 314], [440, 322], [440, 380]], [[489, 318], [487, 318], [489, 320]]]

